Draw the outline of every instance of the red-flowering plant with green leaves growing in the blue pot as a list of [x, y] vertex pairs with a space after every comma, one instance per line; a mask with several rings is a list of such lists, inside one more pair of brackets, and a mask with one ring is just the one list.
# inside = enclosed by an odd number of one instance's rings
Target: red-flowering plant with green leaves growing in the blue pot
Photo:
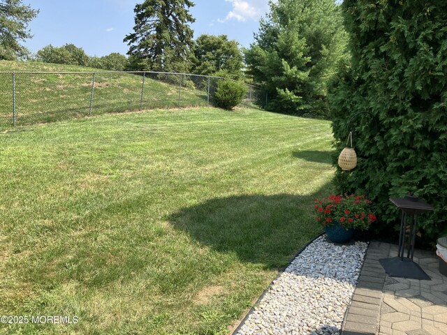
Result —
[[376, 221], [376, 216], [369, 210], [369, 200], [365, 195], [330, 195], [316, 199], [316, 221], [324, 226], [339, 225], [344, 228], [367, 230], [369, 225]]

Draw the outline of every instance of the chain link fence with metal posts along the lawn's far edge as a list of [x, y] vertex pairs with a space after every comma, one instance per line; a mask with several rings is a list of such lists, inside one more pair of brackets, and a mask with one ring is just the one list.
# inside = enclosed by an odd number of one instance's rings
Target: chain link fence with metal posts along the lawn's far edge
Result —
[[[2, 72], [0, 128], [73, 117], [214, 103], [221, 77], [156, 72]], [[242, 105], [264, 105], [267, 93], [247, 84]]]

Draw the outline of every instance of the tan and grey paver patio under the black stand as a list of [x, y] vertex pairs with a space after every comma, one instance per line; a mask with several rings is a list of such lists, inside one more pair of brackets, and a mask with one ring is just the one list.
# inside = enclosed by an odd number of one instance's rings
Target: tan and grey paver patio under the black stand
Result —
[[396, 255], [396, 245], [369, 244], [342, 334], [447, 335], [447, 277], [439, 273], [437, 255], [414, 253], [431, 281], [388, 276], [379, 260]]

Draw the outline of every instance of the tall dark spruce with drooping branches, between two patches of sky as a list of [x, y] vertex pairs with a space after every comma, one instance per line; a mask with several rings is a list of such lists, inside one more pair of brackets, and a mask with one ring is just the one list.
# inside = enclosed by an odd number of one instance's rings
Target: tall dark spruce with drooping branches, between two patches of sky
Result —
[[189, 0], [145, 0], [135, 6], [133, 33], [124, 38], [129, 45], [131, 66], [138, 70], [182, 72], [188, 69], [194, 18]]

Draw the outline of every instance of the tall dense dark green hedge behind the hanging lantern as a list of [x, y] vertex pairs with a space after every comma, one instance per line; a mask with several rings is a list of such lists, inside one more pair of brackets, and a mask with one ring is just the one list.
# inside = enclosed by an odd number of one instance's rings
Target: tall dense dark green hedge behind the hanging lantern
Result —
[[[396, 232], [389, 198], [413, 191], [436, 210], [420, 218], [423, 244], [447, 233], [447, 1], [344, 0], [351, 64], [328, 100], [337, 154], [349, 118], [358, 167], [338, 169], [340, 191], [367, 193], [376, 232]], [[390, 229], [393, 228], [393, 229]]]

